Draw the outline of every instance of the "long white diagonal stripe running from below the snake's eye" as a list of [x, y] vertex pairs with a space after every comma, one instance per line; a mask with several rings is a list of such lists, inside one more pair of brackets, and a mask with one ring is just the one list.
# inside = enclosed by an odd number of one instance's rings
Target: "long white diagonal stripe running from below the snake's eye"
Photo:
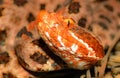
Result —
[[72, 35], [73, 38], [78, 40], [80, 43], [82, 43], [88, 49], [88, 51], [89, 51], [88, 57], [96, 58], [95, 51], [91, 47], [89, 47], [89, 45], [86, 42], [84, 42], [82, 39], [79, 39], [74, 33], [70, 32], [70, 34]]

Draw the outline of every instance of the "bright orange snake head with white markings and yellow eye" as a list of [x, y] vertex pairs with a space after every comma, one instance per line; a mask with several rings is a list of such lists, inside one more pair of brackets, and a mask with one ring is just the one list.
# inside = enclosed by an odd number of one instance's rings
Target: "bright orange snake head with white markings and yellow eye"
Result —
[[37, 20], [41, 38], [69, 67], [88, 69], [103, 58], [103, 47], [98, 39], [72, 19], [41, 11]]

